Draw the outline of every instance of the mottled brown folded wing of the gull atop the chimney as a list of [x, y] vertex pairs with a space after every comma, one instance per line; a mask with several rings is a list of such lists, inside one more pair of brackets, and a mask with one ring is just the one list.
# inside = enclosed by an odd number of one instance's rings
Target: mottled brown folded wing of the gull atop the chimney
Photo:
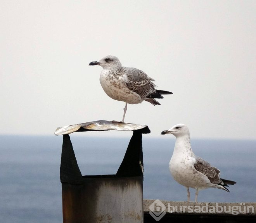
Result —
[[123, 67], [122, 75], [127, 87], [140, 95], [141, 98], [147, 98], [150, 94], [156, 92], [155, 81], [142, 70], [131, 67]]

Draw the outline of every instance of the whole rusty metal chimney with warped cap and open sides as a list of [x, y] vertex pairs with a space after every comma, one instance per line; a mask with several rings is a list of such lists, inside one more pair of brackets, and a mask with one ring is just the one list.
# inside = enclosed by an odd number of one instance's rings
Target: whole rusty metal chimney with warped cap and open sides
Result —
[[[69, 134], [73, 132], [131, 130], [133, 136], [114, 175], [82, 176]], [[57, 128], [63, 135], [60, 177], [63, 223], [142, 223], [142, 134], [146, 125], [99, 120]]]

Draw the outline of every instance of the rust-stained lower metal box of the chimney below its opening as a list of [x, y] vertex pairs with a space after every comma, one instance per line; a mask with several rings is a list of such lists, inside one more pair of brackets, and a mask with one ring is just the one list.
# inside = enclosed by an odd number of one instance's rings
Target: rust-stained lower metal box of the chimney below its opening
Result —
[[84, 184], [62, 183], [64, 223], [142, 223], [142, 176], [83, 177]]

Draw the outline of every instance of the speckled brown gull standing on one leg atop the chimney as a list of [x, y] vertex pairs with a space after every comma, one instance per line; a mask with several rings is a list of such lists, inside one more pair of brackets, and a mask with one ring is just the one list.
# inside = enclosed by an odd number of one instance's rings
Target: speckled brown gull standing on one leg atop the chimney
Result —
[[112, 99], [125, 102], [122, 122], [125, 122], [127, 104], [138, 104], [148, 101], [152, 105], [160, 105], [155, 98], [164, 98], [161, 94], [172, 94], [170, 91], [156, 90], [155, 81], [142, 70], [122, 67], [117, 57], [106, 56], [89, 65], [100, 65], [100, 84], [105, 93]]

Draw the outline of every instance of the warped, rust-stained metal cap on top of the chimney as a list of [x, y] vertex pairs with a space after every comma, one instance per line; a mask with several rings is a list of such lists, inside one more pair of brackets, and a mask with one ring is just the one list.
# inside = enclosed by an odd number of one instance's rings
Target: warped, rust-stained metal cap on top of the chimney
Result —
[[140, 130], [140, 129], [144, 130], [143, 133], [150, 133], [150, 130], [147, 127], [147, 125], [98, 120], [93, 122], [85, 122], [81, 124], [59, 127], [56, 129], [54, 134], [58, 136], [58, 135], [71, 134], [73, 132], [107, 131], [107, 130], [134, 131], [134, 130]]

